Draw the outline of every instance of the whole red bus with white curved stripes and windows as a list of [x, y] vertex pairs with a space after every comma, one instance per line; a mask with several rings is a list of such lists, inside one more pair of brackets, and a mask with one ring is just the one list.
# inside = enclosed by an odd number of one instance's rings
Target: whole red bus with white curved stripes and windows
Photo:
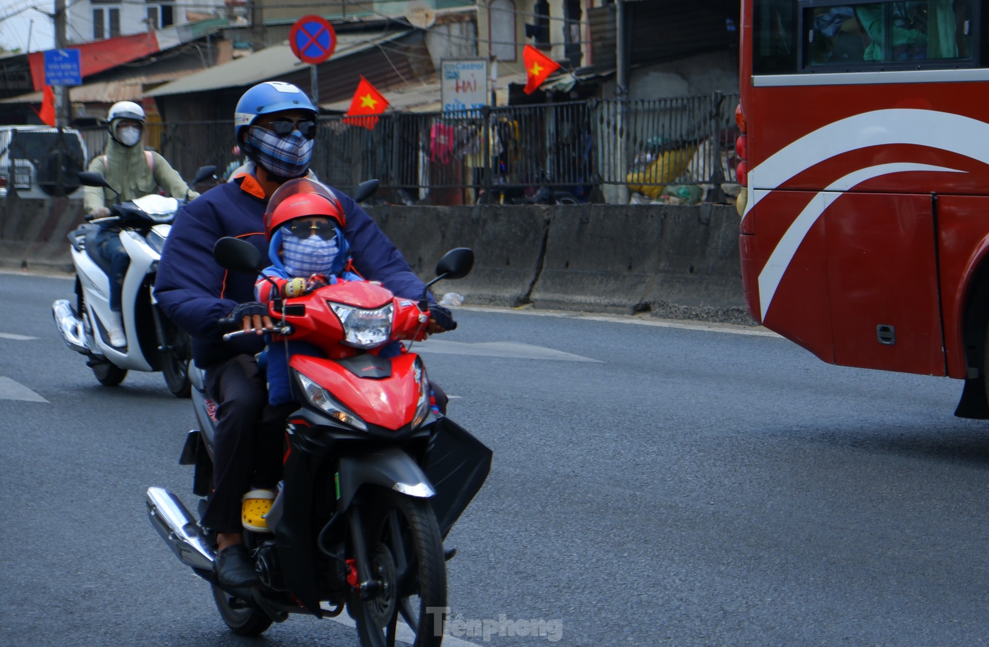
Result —
[[[742, 0], [750, 314], [989, 417], [989, 3]], [[744, 205], [744, 206], [743, 206]]]

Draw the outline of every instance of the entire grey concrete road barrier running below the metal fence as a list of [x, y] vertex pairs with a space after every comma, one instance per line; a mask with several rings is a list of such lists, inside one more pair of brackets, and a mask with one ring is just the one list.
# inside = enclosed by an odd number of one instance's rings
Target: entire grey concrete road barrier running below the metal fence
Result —
[[[474, 271], [438, 286], [465, 303], [752, 323], [729, 206], [652, 205], [368, 208], [423, 280], [453, 247]], [[65, 235], [79, 200], [0, 201], [0, 267], [72, 271]]]

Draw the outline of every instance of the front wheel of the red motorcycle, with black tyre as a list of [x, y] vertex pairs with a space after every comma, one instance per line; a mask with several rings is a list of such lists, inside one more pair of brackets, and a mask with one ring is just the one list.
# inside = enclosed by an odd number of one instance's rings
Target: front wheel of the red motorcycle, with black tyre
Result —
[[[401, 616], [414, 635], [413, 647], [439, 647], [446, 608], [443, 541], [429, 502], [381, 490], [362, 511], [371, 577], [379, 583], [369, 600], [350, 594], [347, 612], [362, 647], [394, 647]], [[407, 634], [403, 642], [408, 642]]]

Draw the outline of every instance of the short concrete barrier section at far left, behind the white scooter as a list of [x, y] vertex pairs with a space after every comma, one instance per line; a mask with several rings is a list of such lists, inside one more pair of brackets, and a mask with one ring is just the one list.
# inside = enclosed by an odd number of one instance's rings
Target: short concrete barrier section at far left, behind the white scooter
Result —
[[81, 199], [0, 200], [0, 268], [71, 272], [68, 238], [82, 224]]

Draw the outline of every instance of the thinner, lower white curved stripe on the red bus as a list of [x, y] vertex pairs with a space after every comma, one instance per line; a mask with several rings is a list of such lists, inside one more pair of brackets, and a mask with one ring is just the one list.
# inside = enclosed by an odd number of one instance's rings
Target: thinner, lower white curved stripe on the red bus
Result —
[[797, 249], [800, 247], [800, 243], [803, 242], [804, 238], [807, 236], [807, 232], [810, 228], [814, 227], [821, 215], [831, 206], [833, 202], [841, 198], [844, 193], [842, 191], [849, 191], [854, 186], [861, 184], [865, 180], [870, 180], [873, 177], [879, 177], [881, 175], [892, 175], [894, 173], [907, 173], [910, 171], [933, 171], [942, 173], [961, 173], [954, 168], [944, 168], [944, 166], [932, 166], [931, 164], [914, 164], [914, 163], [892, 163], [892, 164], [879, 164], [878, 166], [869, 166], [868, 168], [860, 168], [852, 173], [849, 173], [842, 179], [838, 180], [824, 191], [821, 191], [804, 207], [800, 215], [797, 216], [790, 226], [783, 233], [783, 236], [776, 243], [775, 249], [769, 254], [768, 260], [765, 261], [765, 266], [763, 271], [759, 274], [759, 303], [763, 310], [763, 321], [765, 321], [765, 313], [769, 310], [769, 304], [772, 303], [772, 297], [776, 294], [776, 288], [779, 287], [779, 282], [783, 279], [783, 274], [786, 273], [786, 268], [790, 266], [790, 261], [793, 260], [793, 256], [797, 253]]

